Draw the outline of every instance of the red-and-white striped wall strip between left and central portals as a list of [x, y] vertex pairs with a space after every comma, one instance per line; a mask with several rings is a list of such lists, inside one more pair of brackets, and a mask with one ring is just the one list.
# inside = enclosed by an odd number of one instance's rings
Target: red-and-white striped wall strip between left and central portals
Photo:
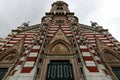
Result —
[[[34, 34], [33, 34], [34, 33]], [[30, 80], [34, 79], [34, 76], [37, 71], [36, 67], [36, 59], [38, 57], [38, 54], [40, 54], [40, 49], [43, 44], [44, 35], [40, 36], [40, 44], [36, 43], [36, 39], [39, 36], [36, 36], [35, 32], [33, 31], [32, 34], [27, 34], [26, 40], [30, 41], [29, 39], [32, 39], [31, 43], [28, 43], [28, 47], [25, 49], [25, 52], [20, 57], [16, 67], [11, 73], [10, 80]], [[28, 77], [29, 76], [29, 77]]]

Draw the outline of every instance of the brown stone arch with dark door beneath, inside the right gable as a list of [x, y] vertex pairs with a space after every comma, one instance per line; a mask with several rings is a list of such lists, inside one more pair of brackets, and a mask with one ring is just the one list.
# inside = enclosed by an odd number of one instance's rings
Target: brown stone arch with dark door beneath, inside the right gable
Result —
[[112, 50], [103, 50], [103, 61], [114, 80], [120, 79], [120, 56]]

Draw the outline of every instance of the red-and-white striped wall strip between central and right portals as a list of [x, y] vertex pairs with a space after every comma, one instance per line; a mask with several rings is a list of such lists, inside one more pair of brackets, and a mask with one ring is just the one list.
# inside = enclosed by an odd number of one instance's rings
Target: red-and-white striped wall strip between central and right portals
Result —
[[[106, 68], [103, 66], [100, 58], [97, 56], [97, 53], [94, 49], [93, 43], [95, 42], [94, 33], [91, 32], [84, 32], [82, 33], [82, 36], [84, 35], [84, 38], [86, 37], [85, 43], [79, 42], [79, 35], [76, 35], [76, 40], [79, 44], [80, 51], [83, 56], [83, 60], [85, 62], [85, 65], [83, 65], [83, 69], [85, 72], [86, 78], [88, 80], [93, 80], [93, 76], [95, 80], [112, 80], [110, 75], [108, 74]], [[89, 36], [90, 35], [90, 36]], [[92, 45], [91, 45], [92, 42]], [[106, 42], [106, 41], [105, 41]], [[102, 78], [100, 77], [102, 76]]]

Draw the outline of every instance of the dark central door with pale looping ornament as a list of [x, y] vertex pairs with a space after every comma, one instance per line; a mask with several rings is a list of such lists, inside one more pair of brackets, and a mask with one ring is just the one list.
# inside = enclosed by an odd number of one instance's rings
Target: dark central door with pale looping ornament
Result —
[[74, 80], [72, 64], [68, 60], [50, 61], [46, 80]]

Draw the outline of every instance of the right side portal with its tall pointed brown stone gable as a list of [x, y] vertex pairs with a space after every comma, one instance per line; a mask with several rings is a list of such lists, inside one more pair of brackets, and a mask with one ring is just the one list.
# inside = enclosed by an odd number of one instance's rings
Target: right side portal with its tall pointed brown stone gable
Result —
[[99, 54], [113, 80], [120, 80], [120, 55], [96, 38]]

